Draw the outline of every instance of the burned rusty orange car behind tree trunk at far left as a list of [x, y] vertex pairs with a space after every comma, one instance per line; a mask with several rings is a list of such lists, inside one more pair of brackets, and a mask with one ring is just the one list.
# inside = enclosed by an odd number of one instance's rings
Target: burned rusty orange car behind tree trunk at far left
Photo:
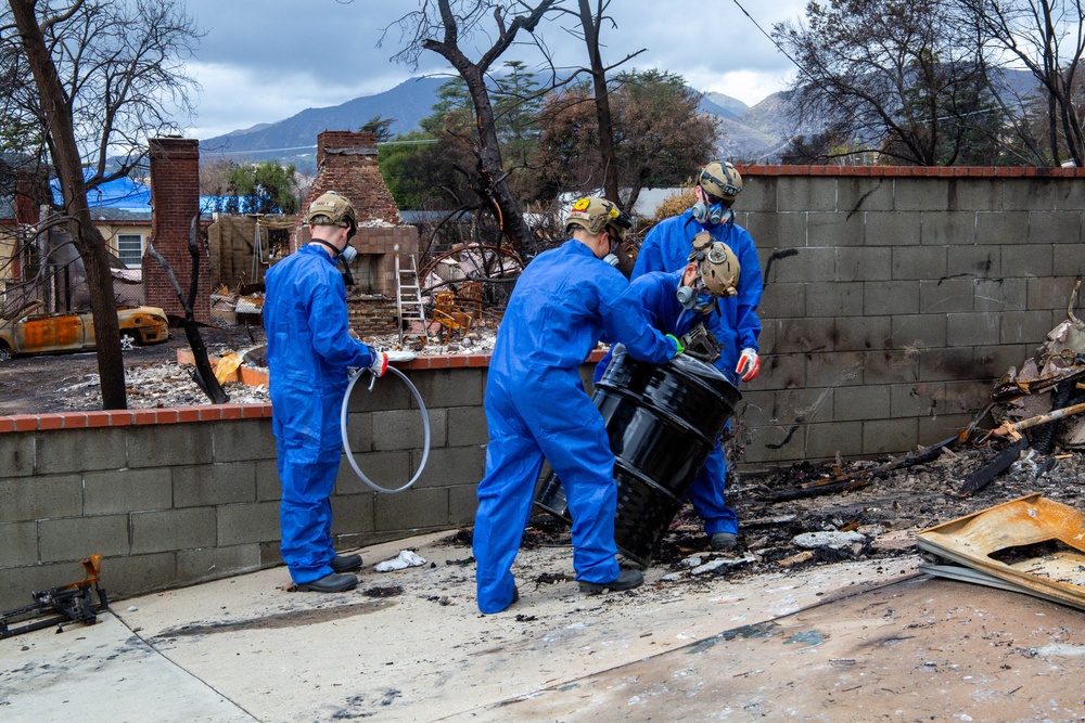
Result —
[[[10, 319], [0, 319], [0, 359], [16, 354], [51, 354], [95, 349], [90, 312], [36, 313], [35, 301]], [[166, 312], [157, 307], [118, 307], [120, 340], [126, 347], [157, 344], [169, 338]]]

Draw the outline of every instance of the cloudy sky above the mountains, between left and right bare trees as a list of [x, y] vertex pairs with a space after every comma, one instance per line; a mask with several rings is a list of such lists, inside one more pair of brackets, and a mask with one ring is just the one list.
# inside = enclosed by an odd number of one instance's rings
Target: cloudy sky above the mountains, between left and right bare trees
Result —
[[[774, 23], [800, 17], [805, 5], [805, 0], [739, 2], [766, 31]], [[412, 75], [449, 70], [431, 52], [423, 53], [417, 69], [390, 60], [405, 44], [394, 23], [419, 7], [416, 0], [186, 0], [186, 4], [206, 34], [188, 64], [203, 88], [196, 117], [186, 129], [189, 138], [281, 120], [308, 107], [339, 105], [388, 90]], [[698, 90], [727, 93], [749, 105], [792, 78], [791, 62], [735, 0], [613, 0], [611, 14], [617, 28], [604, 30], [604, 62], [643, 48], [646, 52], [626, 67], [678, 73]], [[586, 63], [583, 44], [558, 24], [540, 26], [539, 34], [560, 65]], [[485, 37], [478, 39], [482, 43], [489, 46]], [[527, 46], [502, 56], [513, 59], [532, 66], [540, 62], [538, 52]]]

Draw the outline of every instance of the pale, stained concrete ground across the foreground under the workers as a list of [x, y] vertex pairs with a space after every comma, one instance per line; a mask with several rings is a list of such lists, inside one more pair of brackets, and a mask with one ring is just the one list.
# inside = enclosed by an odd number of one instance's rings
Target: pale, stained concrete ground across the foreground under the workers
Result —
[[[405, 548], [427, 564], [373, 571]], [[162, 709], [267, 722], [1085, 715], [1078, 611], [921, 577], [916, 556], [741, 580], [650, 568], [640, 589], [587, 596], [571, 551], [540, 547], [513, 570], [521, 601], [482, 616], [470, 548], [449, 533], [360, 552], [349, 593], [284, 592], [278, 568], [117, 604], [130, 633], [103, 616], [4, 641], [0, 718], [60, 720], [76, 701], [84, 716], [104, 690], [111, 721], [173, 720]], [[99, 632], [108, 644], [82, 649]], [[71, 677], [47, 671], [80, 656], [64, 695], [46, 694], [37, 681]], [[136, 673], [120, 660], [158, 672], [126, 686]]]

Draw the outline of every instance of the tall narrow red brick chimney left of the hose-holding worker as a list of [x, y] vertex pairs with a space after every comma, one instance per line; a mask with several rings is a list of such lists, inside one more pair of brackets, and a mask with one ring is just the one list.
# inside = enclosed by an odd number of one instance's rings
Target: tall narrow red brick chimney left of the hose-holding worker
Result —
[[[188, 138], [151, 139], [151, 243], [169, 262], [189, 297], [192, 256], [189, 254], [189, 228], [200, 214], [200, 142]], [[210, 261], [200, 249], [199, 291], [193, 304], [196, 321], [210, 319]], [[177, 292], [162, 264], [143, 257], [143, 287], [146, 304], [162, 307], [166, 313], [184, 315]]]

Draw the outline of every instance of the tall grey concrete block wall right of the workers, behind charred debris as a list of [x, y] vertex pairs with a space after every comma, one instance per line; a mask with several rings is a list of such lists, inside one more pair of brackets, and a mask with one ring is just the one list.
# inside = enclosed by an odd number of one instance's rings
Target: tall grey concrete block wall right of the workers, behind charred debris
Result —
[[750, 468], [955, 435], [1085, 273], [1081, 169], [739, 170], [765, 276]]

